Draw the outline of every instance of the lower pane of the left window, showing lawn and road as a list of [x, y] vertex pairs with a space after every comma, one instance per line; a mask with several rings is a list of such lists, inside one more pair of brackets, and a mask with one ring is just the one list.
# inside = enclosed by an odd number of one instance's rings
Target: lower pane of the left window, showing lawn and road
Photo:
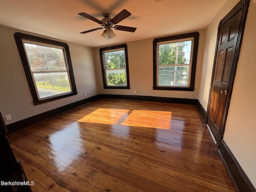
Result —
[[70, 92], [67, 72], [34, 73], [40, 98]]

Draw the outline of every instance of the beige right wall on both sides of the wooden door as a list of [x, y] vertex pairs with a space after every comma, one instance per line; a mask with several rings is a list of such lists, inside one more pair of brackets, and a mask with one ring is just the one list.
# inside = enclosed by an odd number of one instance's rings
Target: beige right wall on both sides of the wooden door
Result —
[[[220, 20], [239, 0], [228, 0], [206, 28], [202, 79], [198, 100], [205, 110], [210, 91], [217, 29]], [[256, 187], [256, 3], [250, 2], [236, 78], [224, 132], [224, 141]]]

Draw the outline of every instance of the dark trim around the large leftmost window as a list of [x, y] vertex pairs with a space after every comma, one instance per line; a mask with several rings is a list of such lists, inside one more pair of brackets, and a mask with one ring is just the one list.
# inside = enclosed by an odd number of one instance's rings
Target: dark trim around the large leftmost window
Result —
[[[25, 74], [26, 74], [26, 78], [28, 80], [28, 85], [29, 85], [29, 88], [30, 88], [30, 92], [32, 94], [34, 105], [54, 101], [54, 100], [57, 100], [57, 99], [60, 99], [60, 98], [65, 98], [65, 97], [69, 97], [69, 96], [77, 94], [68, 44], [63, 43], [63, 42], [58, 42], [58, 41], [55, 41], [55, 40], [50, 40], [50, 39], [46, 39], [46, 38], [33, 36], [33, 35], [28, 35], [28, 34], [24, 34], [24, 33], [20, 33], [20, 32], [16, 32], [14, 34], [14, 38], [15, 38], [15, 41], [16, 41], [16, 44], [17, 44], [17, 47], [18, 47], [18, 51], [20, 53], [20, 58], [21, 58], [21, 61], [22, 61], [22, 65], [23, 65]], [[47, 43], [47, 44], [52, 44], [52, 45], [57, 45], [57, 46], [62, 46], [62, 47], [65, 48], [66, 64], [68, 66], [72, 92], [68, 92], [68, 93], [64, 93], [64, 94], [60, 94], [60, 95], [52, 96], [52, 97], [48, 97], [48, 98], [42, 98], [42, 99], [38, 98], [37, 93], [36, 93], [36, 86], [34, 85], [32, 74], [30, 72], [29, 63], [28, 63], [28, 60], [27, 60], [27, 57], [26, 57], [26, 52], [24, 50], [22, 39], [32, 40], [32, 41], [36, 41], [36, 42]]]

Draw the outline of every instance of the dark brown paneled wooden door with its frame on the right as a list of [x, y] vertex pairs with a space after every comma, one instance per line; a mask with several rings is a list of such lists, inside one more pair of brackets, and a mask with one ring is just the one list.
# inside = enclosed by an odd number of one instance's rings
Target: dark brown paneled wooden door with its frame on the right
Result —
[[[239, 7], [238, 7], [239, 5]], [[221, 22], [214, 60], [207, 123], [219, 146], [224, 134], [234, 75], [245, 23], [245, 3], [240, 2]], [[248, 9], [248, 7], [247, 7]]]

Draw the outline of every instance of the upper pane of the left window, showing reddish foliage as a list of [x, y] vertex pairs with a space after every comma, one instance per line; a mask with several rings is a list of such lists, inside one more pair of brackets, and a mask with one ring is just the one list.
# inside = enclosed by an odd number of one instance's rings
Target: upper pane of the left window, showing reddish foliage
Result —
[[24, 45], [32, 71], [66, 70], [62, 49], [29, 43]]

